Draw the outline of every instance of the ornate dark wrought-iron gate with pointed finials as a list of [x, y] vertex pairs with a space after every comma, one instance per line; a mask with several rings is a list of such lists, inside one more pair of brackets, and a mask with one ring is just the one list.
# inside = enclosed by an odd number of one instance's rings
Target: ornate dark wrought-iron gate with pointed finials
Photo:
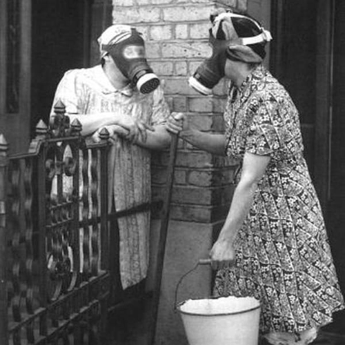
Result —
[[102, 344], [108, 273], [108, 132], [81, 137], [57, 103], [28, 153], [0, 135], [0, 344]]

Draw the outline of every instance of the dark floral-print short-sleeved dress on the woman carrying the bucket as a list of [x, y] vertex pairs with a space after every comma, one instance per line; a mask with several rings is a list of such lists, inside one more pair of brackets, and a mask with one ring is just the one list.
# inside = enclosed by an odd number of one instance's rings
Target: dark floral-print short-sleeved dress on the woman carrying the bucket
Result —
[[215, 295], [259, 299], [262, 333], [332, 322], [344, 299], [293, 101], [258, 66], [240, 88], [230, 86], [224, 119], [228, 156], [241, 161], [250, 152], [270, 163], [237, 235], [235, 267], [219, 270]]

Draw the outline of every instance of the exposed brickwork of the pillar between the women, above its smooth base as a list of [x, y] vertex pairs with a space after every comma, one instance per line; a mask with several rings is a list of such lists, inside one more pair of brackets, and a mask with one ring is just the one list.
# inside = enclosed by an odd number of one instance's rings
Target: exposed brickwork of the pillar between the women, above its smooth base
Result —
[[[188, 77], [210, 55], [209, 15], [217, 6], [244, 10], [246, 1], [209, 0], [114, 0], [114, 23], [130, 23], [143, 33], [152, 69], [164, 83], [172, 111], [188, 112], [192, 126], [222, 132], [226, 81], [210, 97], [188, 86]], [[167, 154], [152, 155], [153, 197], [164, 187]], [[224, 219], [232, 192], [234, 162], [215, 157], [180, 142], [175, 168], [170, 217], [182, 221], [210, 223]]]

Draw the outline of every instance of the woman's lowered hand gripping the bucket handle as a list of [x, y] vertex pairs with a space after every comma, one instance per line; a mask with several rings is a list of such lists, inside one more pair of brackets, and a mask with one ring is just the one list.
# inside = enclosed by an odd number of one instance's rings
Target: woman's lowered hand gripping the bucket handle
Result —
[[233, 242], [226, 239], [217, 239], [210, 250], [211, 266], [214, 270], [235, 265], [235, 249]]

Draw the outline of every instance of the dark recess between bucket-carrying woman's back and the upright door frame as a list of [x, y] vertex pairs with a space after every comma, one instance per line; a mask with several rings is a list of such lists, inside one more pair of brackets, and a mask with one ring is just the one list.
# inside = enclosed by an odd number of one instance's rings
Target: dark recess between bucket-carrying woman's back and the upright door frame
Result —
[[316, 48], [315, 0], [273, 1], [270, 70], [299, 110], [305, 157], [314, 172]]

